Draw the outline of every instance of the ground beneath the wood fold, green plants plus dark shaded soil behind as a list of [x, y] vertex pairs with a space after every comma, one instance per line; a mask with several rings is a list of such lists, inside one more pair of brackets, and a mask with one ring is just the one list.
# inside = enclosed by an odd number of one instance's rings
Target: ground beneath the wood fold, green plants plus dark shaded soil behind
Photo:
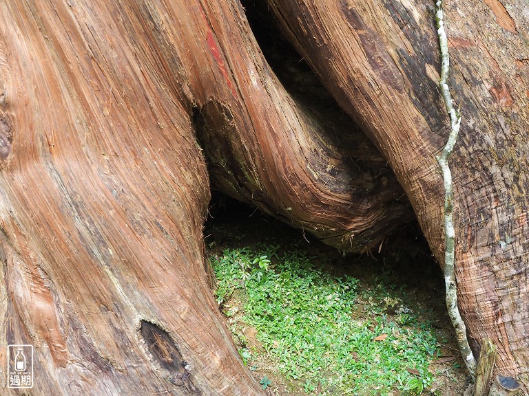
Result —
[[442, 273], [420, 237], [342, 254], [229, 202], [211, 208], [207, 255], [219, 309], [267, 395], [464, 393]]

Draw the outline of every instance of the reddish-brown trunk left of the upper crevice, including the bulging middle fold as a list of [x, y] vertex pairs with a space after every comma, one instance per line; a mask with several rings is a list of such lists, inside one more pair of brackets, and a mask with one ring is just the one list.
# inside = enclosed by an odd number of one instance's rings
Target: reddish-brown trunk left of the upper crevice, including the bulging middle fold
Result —
[[363, 250], [411, 218], [369, 140], [333, 144], [278, 83], [236, 3], [1, 15], [1, 344], [36, 348], [34, 394], [258, 393], [207, 284], [193, 120], [229, 192], [328, 243]]

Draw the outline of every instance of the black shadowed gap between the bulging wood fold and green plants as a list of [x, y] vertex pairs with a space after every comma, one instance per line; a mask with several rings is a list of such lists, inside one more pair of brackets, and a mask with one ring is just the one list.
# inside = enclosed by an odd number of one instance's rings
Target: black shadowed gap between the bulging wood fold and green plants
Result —
[[341, 252], [307, 231], [293, 228], [254, 206], [212, 190], [204, 235], [209, 250], [253, 248], [273, 243], [283, 248], [295, 246], [306, 250], [330, 272], [351, 270], [351, 275], [359, 278], [368, 272], [371, 275], [391, 272], [394, 281], [435, 294], [439, 307], [446, 311], [442, 271], [417, 222], [386, 236], [378, 251]]

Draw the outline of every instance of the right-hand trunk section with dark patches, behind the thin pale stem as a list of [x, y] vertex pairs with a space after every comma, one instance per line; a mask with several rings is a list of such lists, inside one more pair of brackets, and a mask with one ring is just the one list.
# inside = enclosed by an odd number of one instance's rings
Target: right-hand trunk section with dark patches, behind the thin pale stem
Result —
[[[268, 1], [284, 32], [391, 164], [440, 263], [448, 136], [433, 2]], [[463, 122], [454, 177], [459, 306], [495, 373], [529, 392], [529, 16], [525, 1], [447, 1], [450, 86]]]

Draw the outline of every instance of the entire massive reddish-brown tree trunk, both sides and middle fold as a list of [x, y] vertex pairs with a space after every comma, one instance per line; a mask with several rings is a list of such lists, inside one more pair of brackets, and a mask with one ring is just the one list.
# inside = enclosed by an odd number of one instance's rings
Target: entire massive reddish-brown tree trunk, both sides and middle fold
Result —
[[[448, 7], [457, 279], [470, 336], [528, 386], [527, 21], [488, 3], [502, 28], [486, 5]], [[342, 250], [408, 222], [405, 191], [442, 263], [431, 4], [269, 9], [382, 155], [284, 89], [236, 1], [0, 3], [0, 364], [33, 344], [34, 395], [259, 394], [209, 289], [197, 138], [216, 188]]]

